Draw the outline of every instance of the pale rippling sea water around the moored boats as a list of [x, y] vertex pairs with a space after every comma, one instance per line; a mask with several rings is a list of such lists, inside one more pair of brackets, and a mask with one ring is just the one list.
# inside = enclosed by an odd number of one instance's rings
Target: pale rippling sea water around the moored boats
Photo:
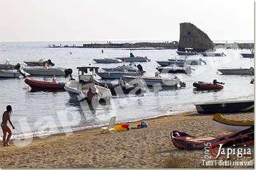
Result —
[[[48, 44], [65, 46], [83, 46], [86, 42], [0, 42], [0, 63], [10, 59], [13, 64], [24, 64], [24, 61], [39, 61], [51, 59], [55, 66], [72, 68], [77, 75], [77, 66], [98, 66], [100, 68], [116, 67], [120, 64], [97, 64], [94, 58], [115, 58], [129, 56], [147, 56], [150, 62], [142, 64], [146, 75], [154, 76], [158, 63], [156, 61], [170, 58], [184, 58], [178, 56], [176, 50], [136, 50], [127, 49], [83, 49], [83, 48], [48, 48]], [[111, 104], [88, 107], [86, 102], [76, 103], [70, 100], [67, 92], [32, 92], [24, 83], [24, 78], [0, 79], [0, 112], [3, 113], [7, 105], [13, 107], [11, 120], [19, 131], [14, 131], [20, 137], [50, 135], [52, 133], [71, 132], [84, 128], [91, 128], [107, 124], [112, 116], [116, 121], [125, 122], [144, 118], [152, 118], [165, 114], [195, 109], [197, 102], [254, 99], [254, 85], [250, 84], [253, 76], [221, 75], [219, 68], [250, 68], [254, 67], [254, 59], [241, 58], [239, 53], [246, 50], [217, 49], [224, 52], [226, 57], [188, 56], [189, 59], [203, 59], [206, 65], [191, 66], [195, 71], [190, 75], [162, 74], [163, 77], [178, 76], [186, 83], [185, 88], [176, 90], [149, 90], [142, 96], [123, 95], [112, 97]], [[71, 54], [72, 53], [72, 54]], [[24, 64], [25, 67], [25, 64]], [[30, 76], [36, 80], [51, 81], [51, 77]], [[97, 77], [100, 79], [100, 77]], [[192, 83], [196, 81], [224, 82], [224, 89], [219, 92], [194, 91]], [[65, 82], [65, 78], [58, 78]], [[0, 133], [2, 135], [2, 132]]]

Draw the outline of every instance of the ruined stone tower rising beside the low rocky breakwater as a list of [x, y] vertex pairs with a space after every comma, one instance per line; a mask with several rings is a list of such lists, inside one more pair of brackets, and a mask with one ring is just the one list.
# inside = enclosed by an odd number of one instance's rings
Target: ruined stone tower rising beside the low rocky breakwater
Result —
[[179, 51], [185, 47], [193, 48], [194, 51], [212, 51], [215, 44], [206, 33], [201, 31], [192, 23], [180, 23]]

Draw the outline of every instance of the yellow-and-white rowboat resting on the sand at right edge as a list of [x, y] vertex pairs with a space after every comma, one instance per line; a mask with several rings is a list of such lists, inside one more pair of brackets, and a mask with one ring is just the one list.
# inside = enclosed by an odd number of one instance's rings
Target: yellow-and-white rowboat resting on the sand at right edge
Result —
[[213, 124], [225, 131], [240, 131], [250, 128], [253, 126], [254, 121], [235, 121], [231, 119], [226, 119], [222, 116], [222, 114], [217, 113], [213, 115]]

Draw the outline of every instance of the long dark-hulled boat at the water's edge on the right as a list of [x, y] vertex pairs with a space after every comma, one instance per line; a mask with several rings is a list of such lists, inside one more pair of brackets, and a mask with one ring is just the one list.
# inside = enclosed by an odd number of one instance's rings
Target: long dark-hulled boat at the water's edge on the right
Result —
[[254, 100], [206, 102], [195, 105], [198, 113], [246, 112], [254, 109]]

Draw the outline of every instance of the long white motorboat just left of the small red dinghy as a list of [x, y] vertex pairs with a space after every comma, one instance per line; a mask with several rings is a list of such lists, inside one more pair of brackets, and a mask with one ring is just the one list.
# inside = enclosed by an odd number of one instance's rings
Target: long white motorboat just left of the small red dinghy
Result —
[[142, 81], [149, 87], [177, 87], [178, 84], [181, 86], [185, 85], [185, 83], [181, 82], [177, 76], [174, 78], [161, 78], [159, 76], [123, 76], [123, 80], [131, 85]]

